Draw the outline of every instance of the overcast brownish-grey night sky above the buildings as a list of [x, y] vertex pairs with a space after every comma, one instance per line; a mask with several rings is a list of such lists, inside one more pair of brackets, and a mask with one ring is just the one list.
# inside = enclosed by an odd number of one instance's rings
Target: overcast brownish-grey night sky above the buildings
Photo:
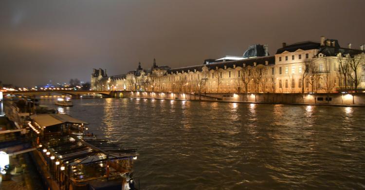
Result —
[[1, 0], [0, 80], [90, 81], [137, 67], [242, 56], [249, 45], [365, 43], [365, 0]]

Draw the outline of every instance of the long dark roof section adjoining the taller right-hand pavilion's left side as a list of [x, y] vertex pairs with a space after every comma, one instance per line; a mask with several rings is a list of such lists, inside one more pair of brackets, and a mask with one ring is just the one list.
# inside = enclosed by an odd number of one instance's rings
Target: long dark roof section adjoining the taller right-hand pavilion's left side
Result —
[[171, 74], [171, 72], [174, 74], [176, 74], [176, 72], [178, 72], [178, 73], [182, 73], [182, 72], [187, 73], [188, 71], [194, 72], [194, 69], [201, 72], [202, 68], [204, 66], [208, 67], [209, 70], [216, 70], [216, 67], [218, 67], [219, 69], [224, 69], [224, 66], [226, 66], [227, 68], [233, 68], [233, 65], [236, 65], [236, 67], [242, 67], [243, 64], [245, 64], [246, 66], [254, 66], [255, 62], [257, 65], [258, 64], [265, 65], [265, 61], [268, 61], [269, 65], [273, 65], [273, 64], [275, 64], [275, 57], [274, 56], [255, 57], [255, 58], [248, 58], [248, 59], [242, 59], [242, 60], [225, 61], [225, 62], [221, 61], [221, 62], [215, 62], [215, 63], [210, 63], [210, 64], [194, 65], [194, 66], [189, 66], [189, 67], [180, 67], [180, 68], [176, 68], [176, 69], [170, 69], [168, 71], [168, 74]]

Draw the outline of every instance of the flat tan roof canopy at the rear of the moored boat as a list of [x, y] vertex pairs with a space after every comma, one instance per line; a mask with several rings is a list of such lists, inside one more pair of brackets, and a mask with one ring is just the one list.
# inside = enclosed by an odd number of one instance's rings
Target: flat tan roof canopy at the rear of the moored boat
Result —
[[89, 124], [68, 114], [35, 114], [30, 117], [41, 127], [49, 127], [62, 123]]

